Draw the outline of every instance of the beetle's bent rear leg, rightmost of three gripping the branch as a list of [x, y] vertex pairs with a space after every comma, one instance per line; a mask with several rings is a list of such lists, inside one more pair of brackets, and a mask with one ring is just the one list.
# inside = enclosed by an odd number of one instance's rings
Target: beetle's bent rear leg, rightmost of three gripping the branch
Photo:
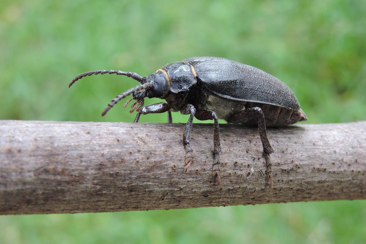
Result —
[[[258, 118], [259, 117], [259, 118]], [[266, 132], [266, 124], [264, 119], [264, 114], [261, 108], [249, 108], [243, 111], [240, 111], [234, 115], [232, 115], [228, 122], [230, 123], [245, 123], [251, 119], [258, 118], [258, 130], [259, 135], [261, 136], [262, 145], [263, 145], [263, 156], [266, 160], [266, 187], [272, 188], [273, 180], [272, 180], [272, 163], [270, 161], [269, 154], [274, 153], [272, 146], [269, 143], [267, 132]]]

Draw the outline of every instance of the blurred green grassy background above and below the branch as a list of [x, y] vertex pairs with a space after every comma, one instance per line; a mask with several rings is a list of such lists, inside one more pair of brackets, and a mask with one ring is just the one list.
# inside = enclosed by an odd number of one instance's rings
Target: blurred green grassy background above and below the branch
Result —
[[[124, 121], [105, 105], [192, 56], [226, 57], [283, 80], [307, 123], [366, 119], [366, 1], [1, 0], [0, 119]], [[145, 104], [159, 102], [145, 100]], [[173, 114], [173, 122], [188, 117]], [[166, 122], [167, 115], [141, 116]], [[365, 243], [366, 201], [0, 216], [0, 243]]]

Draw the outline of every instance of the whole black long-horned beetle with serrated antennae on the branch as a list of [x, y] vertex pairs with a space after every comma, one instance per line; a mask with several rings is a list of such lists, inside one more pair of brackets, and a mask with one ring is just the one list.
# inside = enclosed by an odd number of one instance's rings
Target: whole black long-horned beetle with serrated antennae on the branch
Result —
[[[274, 152], [267, 137], [266, 125], [281, 127], [307, 120], [297, 98], [285, 83], [258, 68], [225, 58], [191, 57], [167, 64], [147, 77], [119, 70], [89, 71], [76, 76], [69, 87], [78, 79], [97, 74], [126, 75], [141, 83], [117, 95], [105, 108], [102, 116], [130, 94], [132, 98], [124, 107], [132, 99], [136, 100], [130, 110], [130, 113], [135, 109], [137, 111], [135, 123], [140, 115], [148, 113], [168, 112], [168, 123], [172, 123], [171, 112], [179, 111], [183, 115], [190, 115], [183, 133], [186, 170], [194, 160], [189, 144], [193, 117], [198, 120], [213, 120], [212, 176], [217, 177], [218, 184], [221, 182], [219, 119], [234, 124], [258, 125], [266, 161], [269, 154]], [[166, 102], [143, 106], [145, 97], [161, 98]], [[272, 181], [272, 175], [270, 180]]]

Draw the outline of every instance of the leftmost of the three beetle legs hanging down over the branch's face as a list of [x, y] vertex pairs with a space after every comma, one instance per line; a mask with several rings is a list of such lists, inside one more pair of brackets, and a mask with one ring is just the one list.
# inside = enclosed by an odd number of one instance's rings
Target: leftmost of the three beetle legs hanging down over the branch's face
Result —
[[182, 113], [182, 115], [190, 115], [188, 122], [186, 124], [186, 128], [184, 128], [184, 133], [183, 133], [183, 144], [184, 144], [184, 148], [186, 149], [186, 167], [184, 167], [184, 169], [189, 168], [189, 166], [191, 166], [191, 164], [193, 164], [193, 154], [192, 154], [192, 149], [189, 146], [189, 136], [190, 136], [190, 132], [191, 132], [191, 128], [192, 128], [192, 123], [193, 123], [193, 117], [194, 114], [196, 113], [196, 109], [194, 108], [193, 105], [187, 104], [184, 105], [183, 108], [180, 110], [180, 113]]

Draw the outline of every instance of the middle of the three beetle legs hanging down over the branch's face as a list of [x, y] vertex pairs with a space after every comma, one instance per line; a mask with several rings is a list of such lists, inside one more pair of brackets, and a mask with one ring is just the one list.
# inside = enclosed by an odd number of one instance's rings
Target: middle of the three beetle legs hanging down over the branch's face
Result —
[[213, 153], [214, 153], [214, 163], [212, 167], [212, 177], [217, 177], [217, 185], [221, 184], [220, 178], [220, 161], [219, 156], [221, 153], [221, 146], [220, 146], [220, 131], [219, 131], [219, 117], [217, 114], [210, 110], [203, 110], [198, 109], [195, 117], [198, 120], [213, 120]]

